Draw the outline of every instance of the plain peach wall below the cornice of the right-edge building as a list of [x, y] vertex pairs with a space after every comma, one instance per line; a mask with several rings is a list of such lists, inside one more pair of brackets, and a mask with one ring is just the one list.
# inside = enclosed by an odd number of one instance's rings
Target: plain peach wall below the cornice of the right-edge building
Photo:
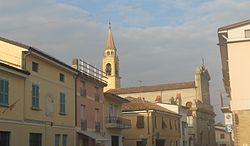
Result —
[[250, 108], [250, 41], [228, 44], [229, 73], [231, 84], [231, 108], [242, 110]]

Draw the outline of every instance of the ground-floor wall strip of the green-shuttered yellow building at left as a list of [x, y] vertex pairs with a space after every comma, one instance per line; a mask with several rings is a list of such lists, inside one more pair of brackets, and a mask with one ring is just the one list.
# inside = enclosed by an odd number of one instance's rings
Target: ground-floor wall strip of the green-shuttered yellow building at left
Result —
[[42, 134], [42, 146], [53, 146], [55, 142], [55, 134], [67, 135], [67, 145], [74, 146], [74, 131], [73, 129], [65, 129], [62, 127], [53, 127], [49, 124], [31, 124], [23, 122], [0, 122], [1, 131], [10, 132], [10, 146], [28, 146], [29, 134], [40, 133]]

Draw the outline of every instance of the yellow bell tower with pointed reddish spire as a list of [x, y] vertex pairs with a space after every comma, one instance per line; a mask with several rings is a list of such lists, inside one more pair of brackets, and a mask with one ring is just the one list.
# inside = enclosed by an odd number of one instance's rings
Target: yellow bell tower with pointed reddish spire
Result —
[[108, 84], [107, 87], [104, 88], [104, 91], [120, 88], [119, 59], [116, 53], [110, 22], [105, 52], [102, 59], [102, 71], [107, 76], [107, 78], [103, 79], [106, 80]]

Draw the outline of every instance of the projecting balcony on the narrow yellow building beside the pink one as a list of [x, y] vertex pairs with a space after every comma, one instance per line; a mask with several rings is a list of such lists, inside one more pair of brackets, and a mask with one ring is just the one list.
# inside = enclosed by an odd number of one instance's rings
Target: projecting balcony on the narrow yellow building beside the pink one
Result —
[[106, 128], [129, 129], [131, 128], [131, 120], [118, 116], [106, 117]]

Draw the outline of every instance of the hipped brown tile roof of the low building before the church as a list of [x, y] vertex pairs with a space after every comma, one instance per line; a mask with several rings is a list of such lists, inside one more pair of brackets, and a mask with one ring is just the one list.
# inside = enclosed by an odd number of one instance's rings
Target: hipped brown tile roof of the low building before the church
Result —
[[129, 100], [130, 102], [122, 104], [122, 111], [124, 112], [125, 111], [156, 110], [156, 111], [168, 112], [171, 114], [178, 115], [175, 112], [172, 112], [164, 107], [161, 107], [157, 105], [156, 103], [146, 101], [145, 99], [134, 98], [134, 97], [126, 97], [126, 99]]

